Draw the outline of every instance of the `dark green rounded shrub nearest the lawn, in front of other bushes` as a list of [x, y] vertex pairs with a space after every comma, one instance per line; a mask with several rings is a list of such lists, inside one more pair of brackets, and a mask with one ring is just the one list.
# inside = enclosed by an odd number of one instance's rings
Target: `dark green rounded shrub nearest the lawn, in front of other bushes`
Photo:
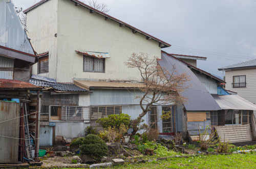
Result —
[[80, 146], [81, 155], [90, 155], [94, 159], [99, 159], [106, 155], [108, 147], [103, 140], [94, 134], [84, 137], [83, 144]]

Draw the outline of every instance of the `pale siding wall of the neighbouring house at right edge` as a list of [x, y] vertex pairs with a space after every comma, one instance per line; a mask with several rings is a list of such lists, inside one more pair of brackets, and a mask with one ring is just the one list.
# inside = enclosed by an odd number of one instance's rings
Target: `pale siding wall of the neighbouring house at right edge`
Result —
[[[232, 88], [233, 76], [246, 75], [246, 88]], [[225, 72], [226, 90], [237, 92], [238, 95], [256, 104], [256, 69], [237, 69]]]

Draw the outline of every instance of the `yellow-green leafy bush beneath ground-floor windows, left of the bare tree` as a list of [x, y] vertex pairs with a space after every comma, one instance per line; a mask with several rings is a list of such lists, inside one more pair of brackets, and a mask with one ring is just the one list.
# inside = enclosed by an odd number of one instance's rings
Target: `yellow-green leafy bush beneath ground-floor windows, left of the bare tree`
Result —
[[120, 115], [109, 115], [106, 118], [101, 118], [96, 121], [99, 123], [104, 129], [107, 129], [109, 127], [111, 128], [119, 128], [121, 124], [125, 126], [129, 126], [131, 123], [131, 117], [126, 114], [120, 114]]

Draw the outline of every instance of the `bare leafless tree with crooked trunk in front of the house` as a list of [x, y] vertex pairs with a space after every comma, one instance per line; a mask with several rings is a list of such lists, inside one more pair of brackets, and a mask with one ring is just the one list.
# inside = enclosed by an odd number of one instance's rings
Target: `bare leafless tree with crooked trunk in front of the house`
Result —
[[151, 59], [147, 53], [133, 53], [124, 63], [128, 68], [138, 69], [145, 86], [140, 89], [143, 95], [137, 95], [142, 109], [138, 118], [133, 120], [133, 134], [138, 131], [138, 125], [148, 111], [151, 111], [153, 104], [176, 104], [187, 102], [187, 98], [181, 93], [189, 86], [189, 76], [186, 73], [178, 74], [176, 67], [172, 66], [167, 70], [157, 64], [157, 57]]

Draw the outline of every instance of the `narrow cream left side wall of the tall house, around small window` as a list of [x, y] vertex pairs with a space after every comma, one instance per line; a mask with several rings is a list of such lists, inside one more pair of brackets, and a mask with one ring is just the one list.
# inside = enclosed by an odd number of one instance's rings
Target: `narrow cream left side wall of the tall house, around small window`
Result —
[[[49, 72], [40, 76], [56, 78], [57, 55], [57, 9], [58, 0], [47, 1], [27, 13], [28, 36], [34, 50], [40, 54], [49, 51]], [[37, 74], [37, 64], [33, 65], [33, 74]]]

